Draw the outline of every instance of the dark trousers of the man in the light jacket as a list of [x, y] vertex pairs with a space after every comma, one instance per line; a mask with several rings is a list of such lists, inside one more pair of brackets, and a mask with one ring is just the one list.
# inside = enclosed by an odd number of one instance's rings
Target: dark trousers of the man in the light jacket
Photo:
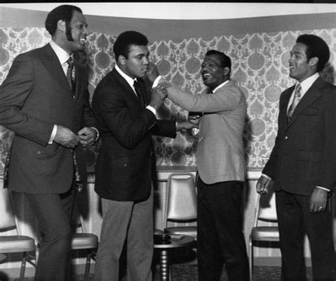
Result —
[[243, 185], [238, 181], [207, 185], [198, 178], [198, 280], [220, 280], [223, 263], [229, 280], [249, 280], [242, 233]]

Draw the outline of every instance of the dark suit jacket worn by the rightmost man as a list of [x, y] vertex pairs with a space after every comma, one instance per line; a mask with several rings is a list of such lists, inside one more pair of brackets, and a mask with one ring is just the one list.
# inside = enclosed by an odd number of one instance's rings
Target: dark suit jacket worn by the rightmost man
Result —
[[275, 190], [310, 195], [317, 185], [335, 185], [336, 87], [319, 77], [287, 122], [293, 89], [281, 93], [278, 134], [263, 173], [274, 179]]

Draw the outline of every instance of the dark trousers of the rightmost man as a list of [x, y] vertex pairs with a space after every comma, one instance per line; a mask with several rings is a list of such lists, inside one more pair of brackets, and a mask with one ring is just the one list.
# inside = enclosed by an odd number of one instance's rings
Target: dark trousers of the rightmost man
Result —
[[309, 211], [310, 197], [281, 190], [276, 192], [281, 249], [281, 280], [306, 280], [303, 254], [308, 235], [314, 280], [335, 280], [335, 250], [330, 212]]

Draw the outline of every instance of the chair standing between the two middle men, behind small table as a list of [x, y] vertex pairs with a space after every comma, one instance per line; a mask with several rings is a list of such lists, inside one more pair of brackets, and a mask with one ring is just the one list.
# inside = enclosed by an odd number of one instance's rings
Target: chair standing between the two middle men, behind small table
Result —
[[[170, 235], [183, 234], [197, 239], [197, 196], [195, 177], [192, 173], [171, 173], [167, 180], [164, 210], [164, 232]], [[175, 226], [169, 226], [174, 222]], [[176, 224], [179, 224], [176, 226]]]

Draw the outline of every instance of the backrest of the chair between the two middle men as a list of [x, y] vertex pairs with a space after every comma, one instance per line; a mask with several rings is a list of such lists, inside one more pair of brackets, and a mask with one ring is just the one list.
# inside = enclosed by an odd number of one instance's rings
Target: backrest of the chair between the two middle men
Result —
[[195, 177], [192, 173], [171, 173], [167, 180], [164, 223], [197, 219]]

